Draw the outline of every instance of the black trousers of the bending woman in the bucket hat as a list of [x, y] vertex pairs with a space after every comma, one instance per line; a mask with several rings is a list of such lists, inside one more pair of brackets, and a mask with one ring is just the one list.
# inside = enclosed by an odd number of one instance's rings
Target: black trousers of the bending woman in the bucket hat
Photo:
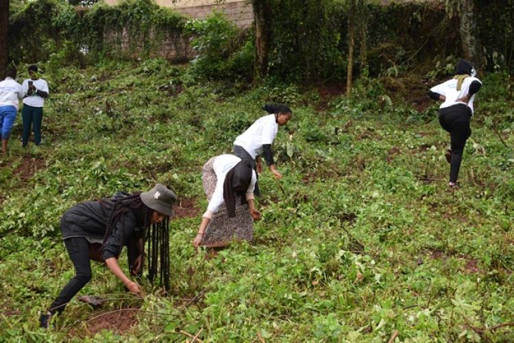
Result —
[[[135, 238], [129, 238], [127, 240], [127, 257], [130, 270], [132, 270], [136, 258], [140, 255], [140, 251], [137, 248], [137, 240], [138, 239]], [[50, 305], [49, 312], [51, 312], [51, 314], [64, 311], [64, 307], [71, 301], [73, 296], [75, 296], [79, 290], [82, 290], [84, 285], [86, 285], [92, 277], [88, 240], [84, 237], [68, 238], [64, 240], [64, 245], [75, 267], [75, 277], [66, 283], [59, 296]], [[141, 268], [138, 275], [140, 276], [142, 273], [143, 268]]]

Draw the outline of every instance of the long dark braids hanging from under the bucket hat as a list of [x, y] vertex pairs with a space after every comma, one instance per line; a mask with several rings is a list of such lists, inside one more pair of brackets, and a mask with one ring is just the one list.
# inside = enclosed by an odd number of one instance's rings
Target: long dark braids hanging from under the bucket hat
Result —
[[[148, 244], [148, 279], [154, 284], [156, 275], [160, 272], [160, 284], [164, 284], [164, 289], [169, 290], [169, 217], [164, 216], [164, 220], [160, 224], [151, 224], [151, 215], [154, 209], [151, 209], [143, 203], [140, 198], [140, 192], [123, 193], [125, 196], [121, 199], [114, 199], [114, 204], [110, 212], [110, 216], [106, 225], [106, 234], [103, 236], [102, 249], [109, 237], [112, 235], [118, 220], [127, 213], [136, 214], [138, 225], [143, 227], [147, 234], [145, 240]], [[101, 203], [101, 199], [99, 199]], [[123, 225], [123, 220], [122, 220]], [[122, 242], [128, 237], [124, 236], [125, 227], [121, 226]], [[143, 244], [144, 250], [145, 244]], [[142, 252], [144, 253], [144, 251]], [[160, 268], [158, 268], [160, 262]]]

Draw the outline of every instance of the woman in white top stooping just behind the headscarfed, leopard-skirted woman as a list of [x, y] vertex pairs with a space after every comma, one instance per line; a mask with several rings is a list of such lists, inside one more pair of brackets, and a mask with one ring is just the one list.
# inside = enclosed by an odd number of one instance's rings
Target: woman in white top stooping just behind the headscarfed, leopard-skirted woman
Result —
[[[293, 111], [283, 103], [278, 105], [267, 104], [262, 106], [262, 109], [269, 115], [258, 118], [243, 134], [237, 136], [234, 140], [234, 155], [243, 160], [250, 160], [257, 173], [262, 173], [260, 155], [264, 155], [271, 173], [277, 179], [281, 179], [282, 174], [277, 170], [273, 161], [271, 145], [277, 136], [278, 127], [286, 125], [291, 120]], [[255, 193], [260, 195], [258, 184]]]

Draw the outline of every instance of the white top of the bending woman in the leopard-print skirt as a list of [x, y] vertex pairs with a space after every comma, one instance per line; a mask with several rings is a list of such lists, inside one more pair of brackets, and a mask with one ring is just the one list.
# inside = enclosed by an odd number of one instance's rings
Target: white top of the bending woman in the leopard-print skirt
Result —
[[[224, 154], [215, 158], [215, 161], [212, 164], [212, 168], [214, 168], [216, 173], [216, 188], [214, 193], [212, 193], [212, 197], [210, 198], [207, 211], [204, 213], [204, 217], [212, 219], [212, 216], [214, 216], [219, 206], [225, 202], [223, 200], [223, 183], [225, 183], [225, 177], [227, 176], [227, 173], [239, 162], [241, 162], [241, 158], [234, 155]], [[252, 170], [252, 181], [250, 182], [250, 186], [246, 191], [246, 200], [254, 199], [256, 181], [257, 177], [255, 175], [255, 170]]]

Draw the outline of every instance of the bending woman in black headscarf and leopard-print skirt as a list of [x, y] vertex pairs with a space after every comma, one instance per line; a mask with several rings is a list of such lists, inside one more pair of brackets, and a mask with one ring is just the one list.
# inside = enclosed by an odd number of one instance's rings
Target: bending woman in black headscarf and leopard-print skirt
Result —
[[208, 207], [193, 246], [216, 248], [234, 238], [253, 240], [253, 220], [260, 219], [255, 208], [256, 173], [249, 160], [234, 155], [212, 157], [202, 170]]

